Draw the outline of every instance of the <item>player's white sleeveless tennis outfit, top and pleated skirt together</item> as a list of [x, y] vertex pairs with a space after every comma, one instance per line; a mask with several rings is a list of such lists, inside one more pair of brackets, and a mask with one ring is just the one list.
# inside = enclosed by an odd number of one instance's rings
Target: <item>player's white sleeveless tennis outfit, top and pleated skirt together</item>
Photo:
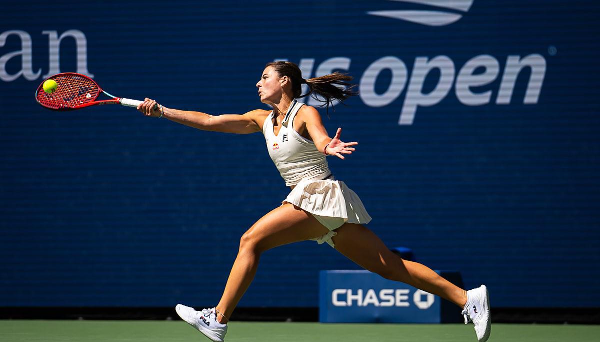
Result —
[[273, 132], [274, 113], [265, 119], [263, 134], [269, 156], [277, 166], [286, 186], [296, 186], [282, 203], [301, 207], [325, 227], [329, 233], [316, 240], [329, 243], [335, 229], [345, 222], [367, 224], [371, 216], [361, 199], [344, 182], [335, 180], [329, 171], [325, 154], [319, 152], [314, 142], [293, 129], [293, 121], [304, 103], [293, 100], [281, 122], [278, 135]]

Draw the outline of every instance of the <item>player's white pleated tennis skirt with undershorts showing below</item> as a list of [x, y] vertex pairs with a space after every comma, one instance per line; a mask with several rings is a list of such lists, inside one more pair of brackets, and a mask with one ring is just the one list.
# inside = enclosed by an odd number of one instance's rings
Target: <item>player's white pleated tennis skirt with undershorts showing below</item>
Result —
[[326, 228], [328, 234], [318, 237], [319, 244], [327, 242], [334, 247], [331, 237], [335, 229], [346, 222], [367, 224], [371, 216], [361, 199], [346, 183], [339, 180], [302, 180], [281, 203], [291, 203], [313, 216]]

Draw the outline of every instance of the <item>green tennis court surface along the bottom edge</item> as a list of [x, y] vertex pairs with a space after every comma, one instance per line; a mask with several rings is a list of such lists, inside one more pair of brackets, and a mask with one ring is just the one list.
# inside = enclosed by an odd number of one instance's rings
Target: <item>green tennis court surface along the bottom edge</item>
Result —
[[[472, 325], [392, 325], [231, 322], [226, 341], [476, 341]], [[598, 341], [600, 326], [493, 325], [490, 341]], [[209, 341], [181, 321], [0, 321], [4, 342]]]

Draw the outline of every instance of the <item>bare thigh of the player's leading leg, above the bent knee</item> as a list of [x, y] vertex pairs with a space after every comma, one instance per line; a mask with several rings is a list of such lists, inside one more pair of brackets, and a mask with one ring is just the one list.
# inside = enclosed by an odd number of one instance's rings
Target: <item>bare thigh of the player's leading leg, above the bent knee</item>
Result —
[[241, 245], [266, 251], [287, 243], [314, 239], [326, 233], [328, 229], [313, 215], [286, 203], [256, 221], [242, 236]]

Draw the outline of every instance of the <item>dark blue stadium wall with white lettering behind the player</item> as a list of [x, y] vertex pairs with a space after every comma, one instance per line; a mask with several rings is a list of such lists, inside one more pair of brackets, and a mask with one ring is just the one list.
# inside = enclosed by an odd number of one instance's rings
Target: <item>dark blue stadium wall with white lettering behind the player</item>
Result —
[[[263, 136], [47, 111], [34, 91], [79, 71], [117, 96], [243, 113], [266, 109], [273, 60], [359, 84], [322, 111], [360, 143], [329, 162], [388, 246], [487, 284], [495, 307], [600, 307], [600, 3], [449, 3], [3, 4], [0, 307], [217, 303], [239, 237], [288, 192]], [[283, 246], [240, 305], [316, 307], [319, 270], [355, 268]]]

